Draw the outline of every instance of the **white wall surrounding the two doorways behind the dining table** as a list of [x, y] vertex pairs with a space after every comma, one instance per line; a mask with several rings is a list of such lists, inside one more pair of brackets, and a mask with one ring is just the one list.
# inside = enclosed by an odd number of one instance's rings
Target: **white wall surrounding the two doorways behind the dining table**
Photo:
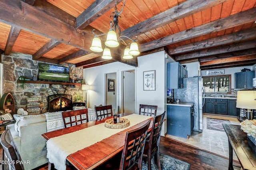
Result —
[[[121, 76], [122, 71], [135, 69], [131, 65], [127, 65], [120, 62], [113, 62], [97, 67], [91, 67], [88, 69], [84, 69], [84, 81], [86, 84], [91, 85], [91, 90], [87, 91], [87, 107], [92, 108], [94, 105], [105, 105], [105, 74], [106, 73], [114, 73], [116, 72], [116, 96], [117, 96], [117, 108], [116, 112], [118, 113], [118, 106], [120, 106], [121, 111]], [[136, 71], [135, 71], [136, 72]]]

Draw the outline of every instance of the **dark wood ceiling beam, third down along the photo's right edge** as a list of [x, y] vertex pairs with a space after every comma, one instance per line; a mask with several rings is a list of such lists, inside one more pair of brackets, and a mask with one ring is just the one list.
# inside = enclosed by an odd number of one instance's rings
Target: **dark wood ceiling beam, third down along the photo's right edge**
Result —
[[203, 49], [200, 51], [195, 51], [187, 54], [180, 54], [180, 55], [176, 55], [175, 59], [176, 61], [179, 61], [182, 59], [199, 58], [199, 57], [205, 57], [209, 55], [217, 55], [221, 53], [228, 53], [232, 51], [238, 51], [242, 49], [249, 49], [249, 48], [255, 48], [255, 47], [256, 47], [256, 40], [251, 40], [248, 42], [234, 43], [234, 44], [223, 45], [220, 47], [214, 47], [210, 49]]

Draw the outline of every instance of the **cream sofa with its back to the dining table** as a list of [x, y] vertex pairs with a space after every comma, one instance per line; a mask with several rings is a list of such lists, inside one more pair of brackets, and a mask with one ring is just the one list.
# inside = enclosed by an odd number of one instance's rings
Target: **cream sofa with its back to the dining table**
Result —
[[[47, 115], [54, 115], [56, 117], [56, 113], [27, 116], [14, 115], [16, 123], [6, 127], [10, 129], [21, 159], [29, 161], [29, 164], [24, 164], [25, 170], [31, 170], [48, 163], [48, 159], [46, 158], [46, 140], [41, 135], [49, 132], [50, 129], [47, 129], [49, 127], [49, 122], [47, 124], [46, 121]], [[94, 109], [88, 109], [88, 118], [89, 121], [96, 119]], [[59, 124], [60, 122], [59, 117], [57, 119], [55, 124]], [[63, 127], [63, 123], [62, 125], [58, 125], [58, 128]], [[50, 130], [52, 131], [53, 128]]]

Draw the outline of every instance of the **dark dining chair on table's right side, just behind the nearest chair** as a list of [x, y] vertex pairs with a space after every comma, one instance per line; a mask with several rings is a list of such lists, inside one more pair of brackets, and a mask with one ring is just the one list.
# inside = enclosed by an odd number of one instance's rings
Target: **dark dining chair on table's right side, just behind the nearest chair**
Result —
[[165, 111], [161, 115], [154, 117], [152, 128], [150, 130], [150, 136], [146, 139], [143, 156], [147, 158], [148, 170], [151, 170], [151, 159], [153, 156], [155, 156], [155, 160], [157, 160], [158, 170], [161, 170], [159, 145], [164, 115]]

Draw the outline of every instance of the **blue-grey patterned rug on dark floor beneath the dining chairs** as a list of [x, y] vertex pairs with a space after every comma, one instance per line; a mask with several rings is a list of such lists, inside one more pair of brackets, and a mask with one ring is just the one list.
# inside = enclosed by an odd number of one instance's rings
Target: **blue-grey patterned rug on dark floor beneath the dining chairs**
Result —
[[[173, 158], [172, 156], [161, 154], [161, 153], [160, 153], [160, 164], [161, 164], [161, 170], [189, 170], [190, 169], [189, 163]], [[144, 160], [142, 161], [142, 170], [148, 170], [148, 163]], [[158, 170], [157, 164], [154, 163], [154, 157], [151, 160], [151, 170]]]

